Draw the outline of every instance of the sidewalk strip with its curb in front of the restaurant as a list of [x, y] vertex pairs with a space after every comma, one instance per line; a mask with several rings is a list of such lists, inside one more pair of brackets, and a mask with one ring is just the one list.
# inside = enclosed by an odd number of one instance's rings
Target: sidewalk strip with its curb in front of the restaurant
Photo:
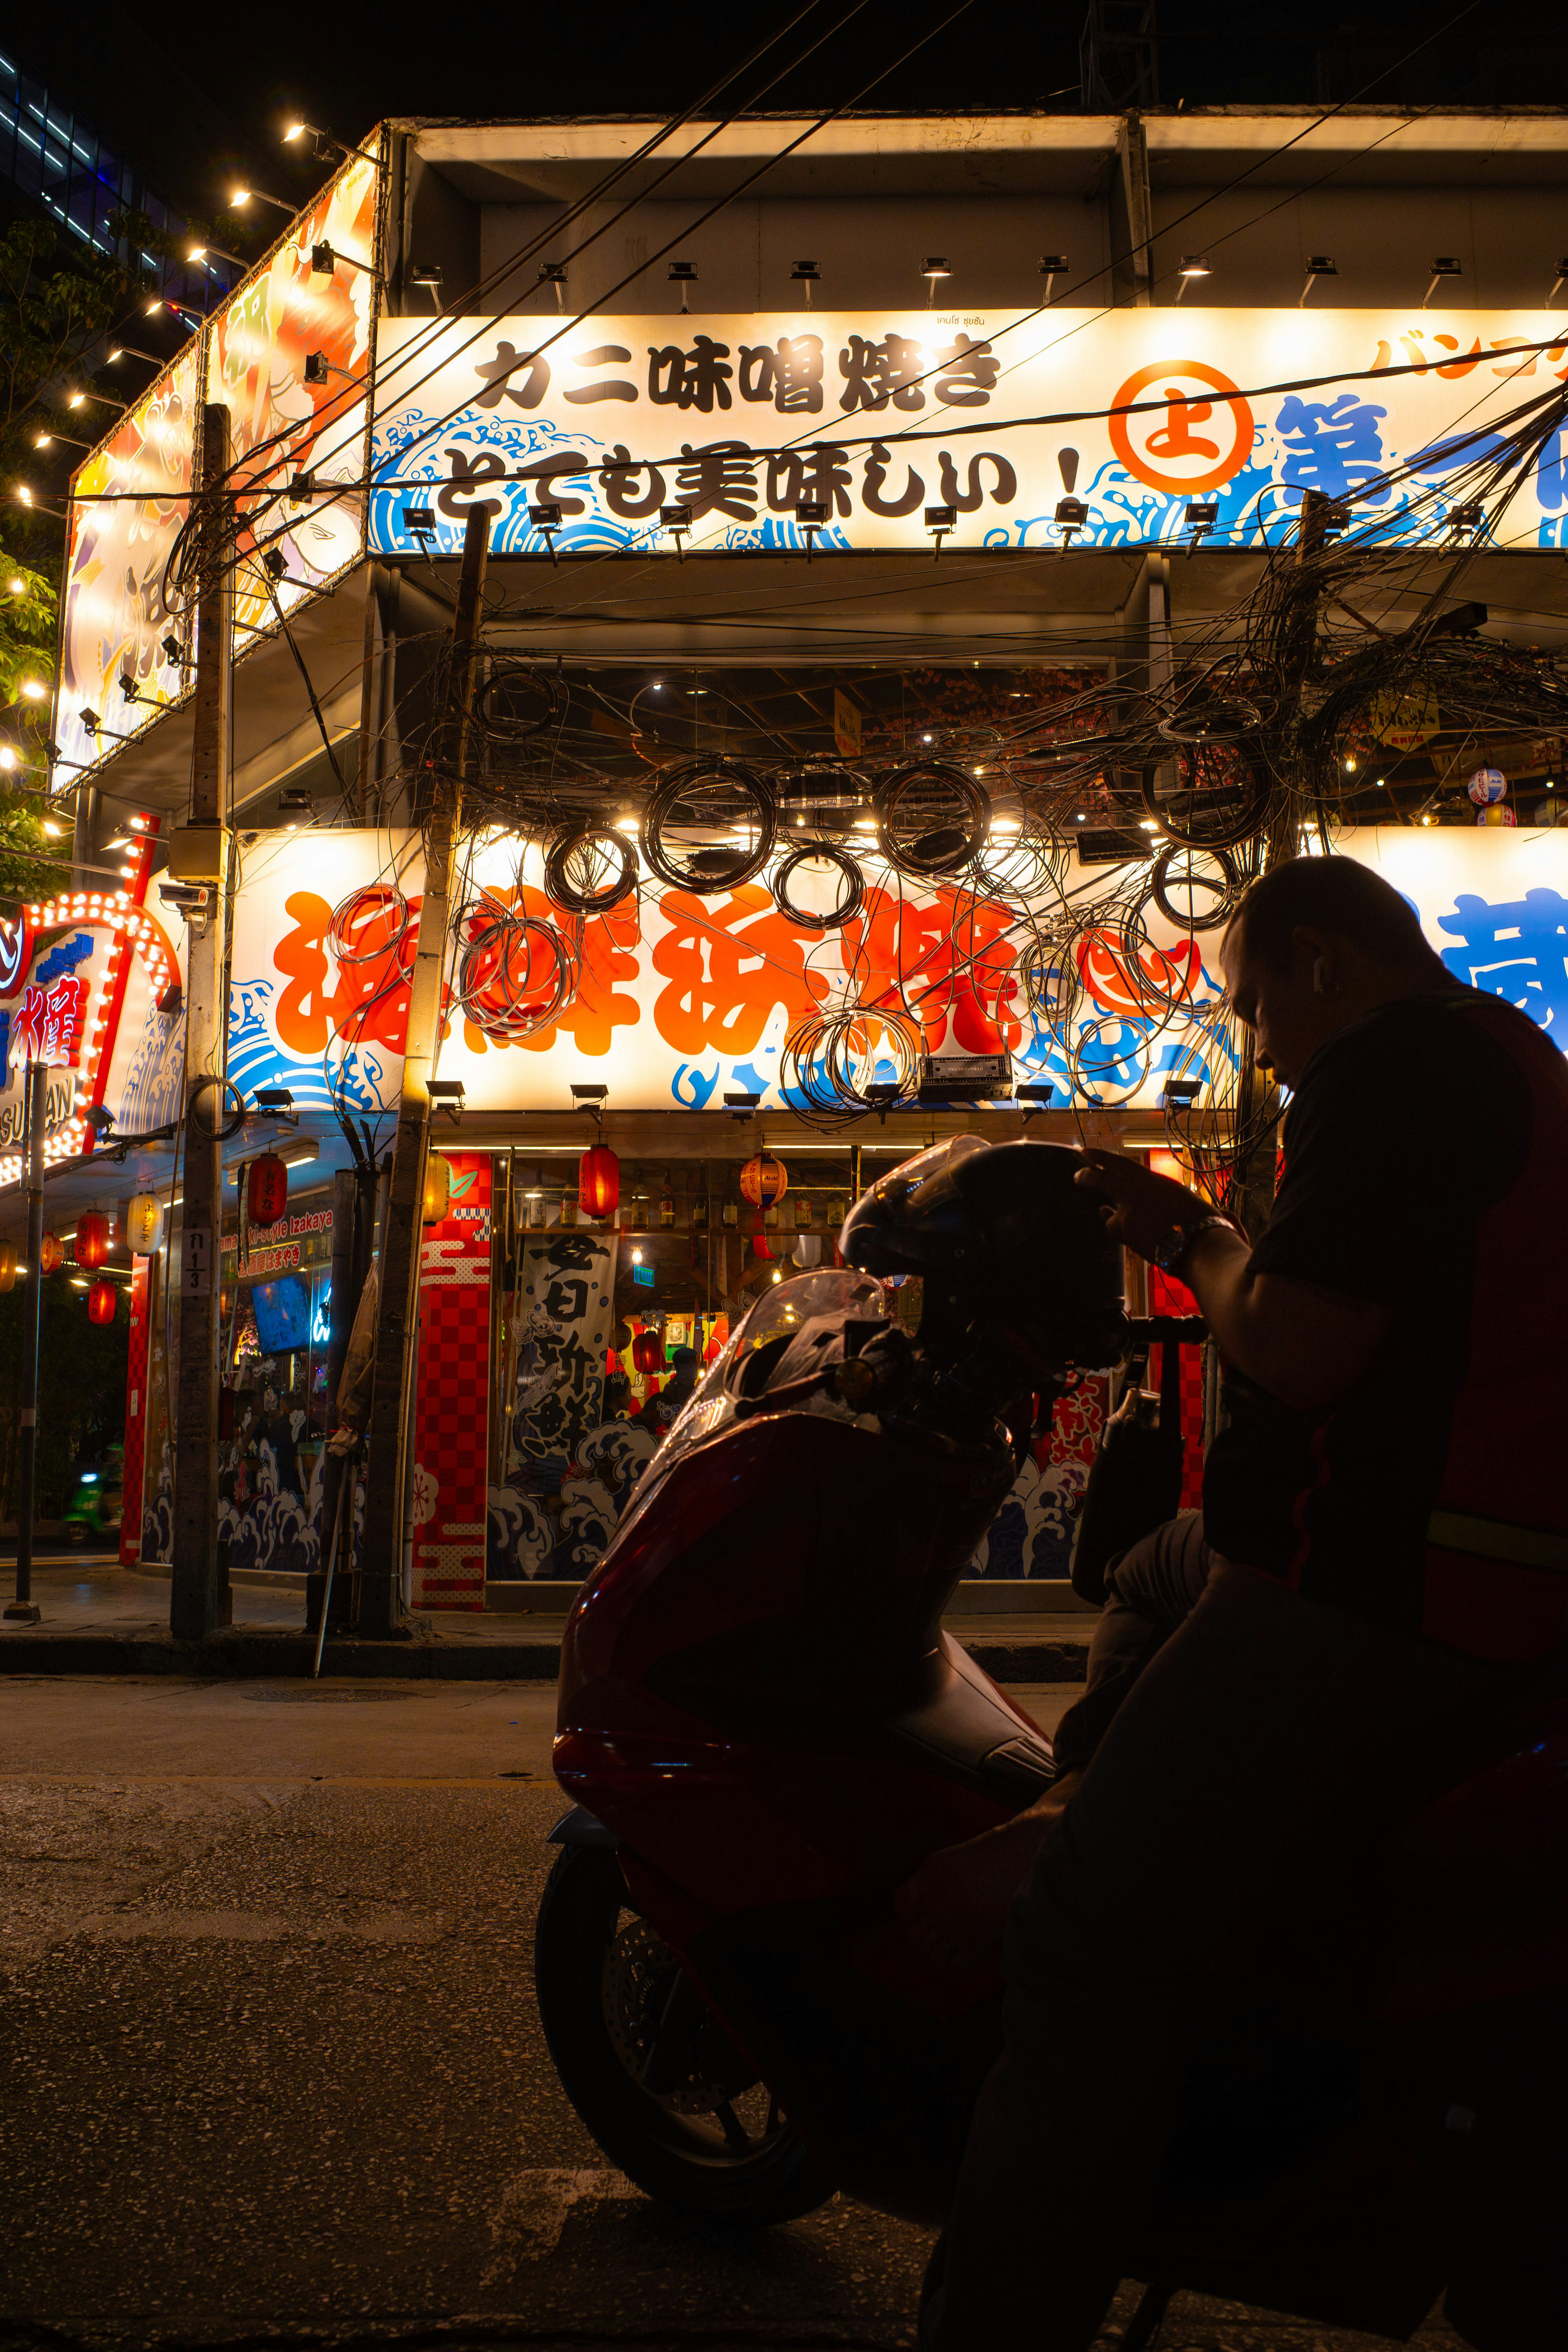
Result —
[[[2, 1571], [0, 1571], [2, 1573]], [[310, 1675], [303, 1590], [235, 1583], [233, 1625], [209, 1642], [169, 1635], [169, 1578], [103, 1559], [33, 1566], [38, 1625], [0, 1625], [0, 1675]], [[999, 1682], [1081, 1682], [1093, 1616], [950, 1613], [947, 1632]], [[555, 1682], [567, 1616], [442, 1611], [416, 1616], [407, 1639], [327, 1639], [322, 1675], [418, 1682]]]

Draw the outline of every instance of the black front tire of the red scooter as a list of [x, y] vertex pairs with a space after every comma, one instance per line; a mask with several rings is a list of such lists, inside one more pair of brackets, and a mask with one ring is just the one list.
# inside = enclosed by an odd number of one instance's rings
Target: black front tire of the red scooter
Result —
[[564, 1846], [538, 1907], [534, 1985], [567, 2098], [611, 2164], [658, 2204], [736, 2230], [813, 2213], [832, 2197], [832, 2183], [788, 2119], [769, 2110], [769, 2129], [750, 2152], [736, 2152], [729, 2133], [656, 2098], [632, 2072], [611, 2030], [611, 1978], [628, 1912], [635, 1919], [614, 1851]]

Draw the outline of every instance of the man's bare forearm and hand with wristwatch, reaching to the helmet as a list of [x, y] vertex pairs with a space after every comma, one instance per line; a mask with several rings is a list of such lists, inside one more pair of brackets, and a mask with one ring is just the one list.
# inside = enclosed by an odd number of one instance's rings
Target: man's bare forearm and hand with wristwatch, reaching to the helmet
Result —
[[[1112, 1202], [1110, 1230], [1152, 1258], [1171, 1225], [1197, 1223], [1208, 1204], [1119, 1152], [1084, 1152], [1077, 1181]], [[1227, 1225], [1192, 1244], [1182, 1282], [1194, 1294], [1220, 1355], [1298, 1414], [1342, 1404], [1373, 1369], [1389, 1310], [1349, 1291], [1293, 1275], [1248, 1275], [1251, 1247]]]

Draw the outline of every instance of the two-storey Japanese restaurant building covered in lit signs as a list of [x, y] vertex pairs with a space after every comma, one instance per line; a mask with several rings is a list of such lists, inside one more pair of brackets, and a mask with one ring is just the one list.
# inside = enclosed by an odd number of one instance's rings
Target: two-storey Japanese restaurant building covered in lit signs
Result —
[[[75, 477], [54, 786], [78, 889], [0, 974], [16, 1021], [78, 983], [52, 1197], [176, 1195], [186, 931], [158, 875], [190, 776], [181, 529], [226, 405], [228, 1157], [292, 1162], [289, 1216], [252, 1235], [235, 1207], [226, 1251], [235, 1562], [320, 1557], [324, 1218], [346, 1134], [378, 1162], [400, 1108], [473, 513], [416, 1604], [576, 1578], [651, 1442], [607, 1414], [607, 1359], [646, 1404], [677, 1341], [705, 1352], [823, 1263], [835, 1207], [933, 1136], [1098, 1122], [1225, 1157], [1246, 1105], [1213, 938], [1269, 729], [1321, 708], [1314, 661], [1366, 680], [1312, 753], [1324, 828], [1455, 974], [1568, 1018], [1561, 129], [388, 122], [348, 155]], [[1371, 595], [1338, 579], [1305, 637], [1269, 635], [1305, 515], [1363, 548]], [[1422, 635], [1401, 670], [1434, 588], [1446, 652]], [[1182, 715], [1241, 661], [1246, 691]], [[1516, 826], [1476, 826], [1479, 769]], [[618, 1164], [597, 1218], [590, 1148]], [[769, 1155], [788, 1190], [752, 1200]], [[0, 1148], [0, 1185], [14, 1167]], [[150, 1548], [169, 1263], [136, 1275]], [[1058, 1409], [985, 1573], [1060, 1573], [1103, 1406]]]

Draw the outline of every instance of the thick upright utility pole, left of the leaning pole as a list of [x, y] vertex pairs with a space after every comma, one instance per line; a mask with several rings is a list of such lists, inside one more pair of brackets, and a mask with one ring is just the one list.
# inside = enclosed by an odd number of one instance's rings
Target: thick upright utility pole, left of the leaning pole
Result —
[[228, 1559], [219, 1559], [219, 1263], [228, 1004], [223, 927], [228, 889], [228, 734], [233, 713], [233, 506], [228, 409], [202, 409], [202, 503], [195, 604], [195, 741], [186, 870], [209, 875], [205, 917], [190, 908], [186, 955], [186, 1214], [179, 1263], [179, 1390], [174, 1423], [174, 1576], [169, 1630], [205, 1642], [233, 1618]]

